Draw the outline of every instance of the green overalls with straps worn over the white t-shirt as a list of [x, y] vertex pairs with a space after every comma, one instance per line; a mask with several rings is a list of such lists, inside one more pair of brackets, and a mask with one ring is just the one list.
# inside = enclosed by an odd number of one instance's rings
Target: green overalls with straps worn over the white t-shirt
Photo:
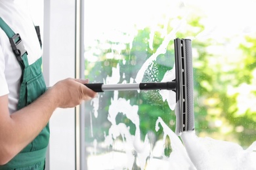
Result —
[[[0, 17], [0, 27], [5, 31], [10, 39], [12, 50], [20, 63], [22, 77], [20, 79], [20, 98], [18, 109], [30, 105], [37, 97], [46, 90], [45, 80], [41, 72], [42, 58], [37, 59], [32, 65], [28, 64], [27, 52], [20, 36], [15, 34], [12, 29]], [[40, 37], [39, 31], [37, 36]], [[40, 39], [39, 39], [40, 41]], [[41, 41], [40, 41], [41, 44]], [[37, 114], [36, 112], [34, 114]], [[0, 166], [2, 169], [45, 169], [45, 155], [49, 143], [49, 124], [39, 133], [39, 135], [28, 144], [18, 155], [9, 163]]]

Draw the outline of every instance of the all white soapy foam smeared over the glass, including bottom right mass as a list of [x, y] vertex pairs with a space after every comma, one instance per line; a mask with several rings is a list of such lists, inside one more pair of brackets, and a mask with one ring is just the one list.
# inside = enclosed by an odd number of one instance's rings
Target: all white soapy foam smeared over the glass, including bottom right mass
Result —
[[[150, 61], [146, 62], [150, 64]], [[145, 66], [146, 67], [146, 66]], [[143, 70], [143, 69], [142, 69]], [[108, 76], [106, 83], [115, 84], [119, 80], [119, 65], [112, 69], [114, 76]], [[139, 75], [139, 76], [138, 76]], [[142, 80], [142, 74], [137, 75], [137, 80]], [[117, 79], [118, 78], [118, 79]], [[162, 82], [175, 79], [175, 67], [167, 71]], [[160, 94], [163, 101], [167, 100], [170, 109], [175, 108], [175, 93], [173, 91], [161, 90]], [[108, 110], [108, 121], [111, 122], [111, 127], [108, 135], [105, 136], [105, 144], [113, 146], [118, 143], [117, 138], [121, 137], [121, 143], [124, 145], [123, 152], [125, 157], [119, 156], [126, 161], [126, 167], [132, 169], [135, 160], [135, 152], [138, 164], [145, 169], [255, 169], [256, 168], [256, 143], [251, 144], [249, 148], [244, 150], [240, 145], [226, 141], [217, 141], [209, 137], [200, 138], [196, 136], [195, 131], [184, 132], [181, 135], [181, 140], [171, 129], [158, 118], [156, 120], [156, 131], [163, 128], [163, 140], [158, 141], [154, 148], [148, 140], [148, 136], [144, 141], [140, 139], [139, 129], [139, 107], [130, 105], [129, 100], [118, 98], [118, 92], [114, 92], [114, 97], [111, 100], [111, 105]], [[98, 107], [94, 107], [97, 109]], [[116, 116], [122, 112], [133, 124], [135, 124], [135, 135], [131, 135], [129, 127], [123, 123], [116, 124]], [[95, 115], [96, 116], [96, 115]], [[172, 152], [169, 157], [163, 154], [163, 145], [165, 138], [169, 136], [171, 140]], [[94, 142], [96, 144], [96, 141]], [[94, 147], [96, 150], [96, 146]], [[96, 152], [94, 150], [94, 152]], [[116, 155], [116, 152], [112, 156]], [[154, 159], [154, 155], [160, 155], [161, 160]], [[117, 159], [114, 156], [115, 160]], [[157, 163], [158, 162], [158, 163]], [[161, 162], [161, 163], [159, 163]], [[117, 169], [116, 161], [110, 163]], [[112, 167], [113, 168], [113, 167]]]

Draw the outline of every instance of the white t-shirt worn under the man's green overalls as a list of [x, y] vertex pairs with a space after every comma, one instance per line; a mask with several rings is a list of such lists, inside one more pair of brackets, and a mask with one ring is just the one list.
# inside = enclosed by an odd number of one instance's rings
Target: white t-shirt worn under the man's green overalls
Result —
[[[28, 52], [31, 65], [41, 57], [41, 47], [35, 32], [32, 17], [26, 0], [0, 0], [0, 16], [18, 33]], [[22, 74], [18, 60], [14, 56], [9, 38], [0, 28], [0, 96], [9, 94], [9, 111], [17, 109], [20, 76]]]

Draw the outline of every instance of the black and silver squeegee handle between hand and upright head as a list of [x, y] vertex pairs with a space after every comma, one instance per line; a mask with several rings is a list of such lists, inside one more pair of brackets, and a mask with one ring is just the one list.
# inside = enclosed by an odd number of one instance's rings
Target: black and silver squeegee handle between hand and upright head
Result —
[[176, 82], [140, 82], [138, 84], [85, 84], [95, 92], [114, 91], [114, 90], [175, 90]]

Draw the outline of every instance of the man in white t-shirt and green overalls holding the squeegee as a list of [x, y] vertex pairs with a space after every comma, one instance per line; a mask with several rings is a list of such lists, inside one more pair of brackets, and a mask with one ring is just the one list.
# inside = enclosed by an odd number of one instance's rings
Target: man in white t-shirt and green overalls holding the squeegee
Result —
[[48, 122], [58, 107], [95, 97], [67, 78], [47, 90], [41, 46], [23, 0], [0, 0], [0, 169], [44, 169]]

